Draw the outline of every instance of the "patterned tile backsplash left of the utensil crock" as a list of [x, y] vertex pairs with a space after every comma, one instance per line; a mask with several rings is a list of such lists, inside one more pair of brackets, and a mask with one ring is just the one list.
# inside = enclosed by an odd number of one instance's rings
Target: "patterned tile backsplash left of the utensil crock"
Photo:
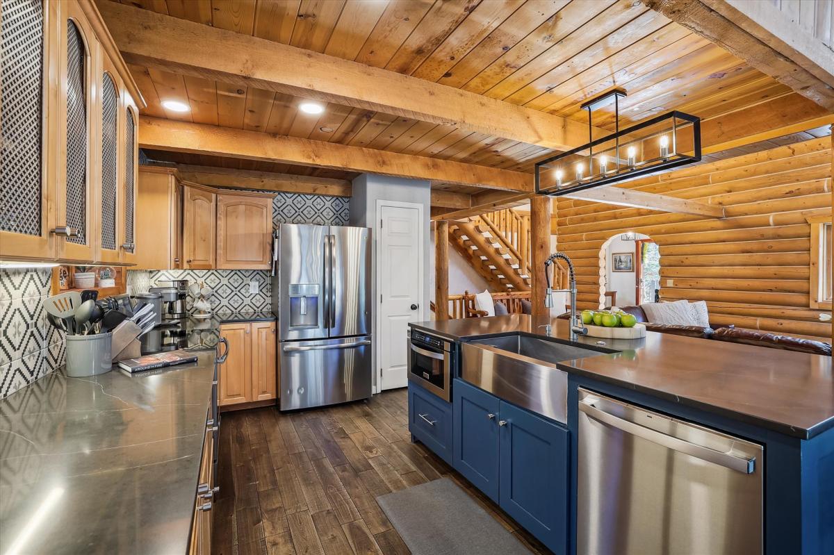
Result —
[[49, 268], [0, 269], [0, 398], [63, 364], [63, 334], [43, 310], [51, 276]]

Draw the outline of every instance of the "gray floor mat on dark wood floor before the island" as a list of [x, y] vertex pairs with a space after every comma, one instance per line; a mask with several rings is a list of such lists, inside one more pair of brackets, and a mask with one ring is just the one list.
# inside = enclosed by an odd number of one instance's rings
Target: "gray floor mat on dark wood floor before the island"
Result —
[[376, 498], [414, 555], [529, 555], [449, 478]]

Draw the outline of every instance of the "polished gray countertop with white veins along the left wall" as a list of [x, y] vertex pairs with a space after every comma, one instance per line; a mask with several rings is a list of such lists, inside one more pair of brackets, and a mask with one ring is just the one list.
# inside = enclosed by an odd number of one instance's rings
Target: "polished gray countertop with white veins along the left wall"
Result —
[[57, 371], [0, 401], [0, 552], [187, 552], [214, 373], [198, 356]]

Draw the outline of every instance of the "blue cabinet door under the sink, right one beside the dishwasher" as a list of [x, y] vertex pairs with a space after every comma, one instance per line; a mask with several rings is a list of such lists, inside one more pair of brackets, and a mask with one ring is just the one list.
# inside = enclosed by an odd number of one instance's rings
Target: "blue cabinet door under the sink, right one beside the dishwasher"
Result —
[[567, 550], [568, 431], [500, 403], [500, 506], [555, 553]]

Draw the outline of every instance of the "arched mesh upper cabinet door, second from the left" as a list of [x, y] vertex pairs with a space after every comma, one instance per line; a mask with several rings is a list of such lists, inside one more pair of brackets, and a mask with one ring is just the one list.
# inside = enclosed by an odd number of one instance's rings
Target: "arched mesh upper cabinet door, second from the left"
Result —
[[58, 78], [58, 258], [94, 259], [93, 67], [95, 37], [75, 2], [60, 2], [62, 41]]

